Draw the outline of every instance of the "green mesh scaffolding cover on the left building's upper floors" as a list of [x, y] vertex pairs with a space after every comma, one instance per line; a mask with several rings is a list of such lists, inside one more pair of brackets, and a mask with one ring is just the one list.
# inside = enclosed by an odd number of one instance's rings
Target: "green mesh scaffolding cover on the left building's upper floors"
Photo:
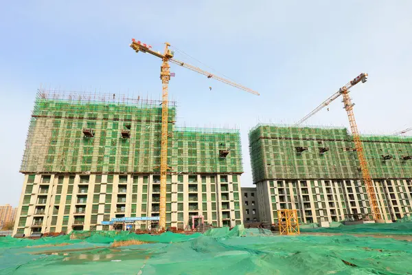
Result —
[[[158, 173], [161, 110], [155, 100], [112, 100], [38, 93], [23, 173]], [[168, 166], [184, 173], [242, 173], [236, 129], [177, 127], [169, 102]], [[93, 136], [84, 134], [84, 129]], [[87, 132], [89, 133], [89, 132]], [[127, 133], [124, 137], [123, 133]], [[220, 151], [229, 150], [226, 157]]]

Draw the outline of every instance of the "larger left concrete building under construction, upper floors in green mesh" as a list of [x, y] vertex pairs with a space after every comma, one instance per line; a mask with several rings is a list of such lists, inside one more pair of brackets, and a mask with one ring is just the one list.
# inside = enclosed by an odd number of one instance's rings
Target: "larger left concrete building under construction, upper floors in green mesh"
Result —
[[[240, 133], [175, 126], [169, 102], [166, 226], [242, 223]], [[148, 229], [159, 217], [161, 102], [39, 91], [27, 135], [14, 234]], [[141, 221], [137, 221], [141, 218]]]

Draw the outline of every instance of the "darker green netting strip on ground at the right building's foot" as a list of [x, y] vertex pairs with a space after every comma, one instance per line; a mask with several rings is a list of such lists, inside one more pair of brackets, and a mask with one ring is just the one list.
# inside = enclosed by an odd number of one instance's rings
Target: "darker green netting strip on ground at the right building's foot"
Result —
[[411, 235], [412, 222], [361, 223], [356, 225], [340, 224], [339, 226], [330, 228], [310, 228], [303, 226], [301, 227], [301, 232]]

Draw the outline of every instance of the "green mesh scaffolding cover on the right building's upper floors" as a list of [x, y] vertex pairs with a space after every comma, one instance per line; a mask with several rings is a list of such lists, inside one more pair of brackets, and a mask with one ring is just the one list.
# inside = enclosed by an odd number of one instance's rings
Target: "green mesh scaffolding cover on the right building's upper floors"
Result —
[[[412, 178], [412, 137], [362, 135], [361, 141], [373, 179]], [[258, 124], [249, 146], [254, 182], [361, 178], [353, 137], [343, 127]]]

